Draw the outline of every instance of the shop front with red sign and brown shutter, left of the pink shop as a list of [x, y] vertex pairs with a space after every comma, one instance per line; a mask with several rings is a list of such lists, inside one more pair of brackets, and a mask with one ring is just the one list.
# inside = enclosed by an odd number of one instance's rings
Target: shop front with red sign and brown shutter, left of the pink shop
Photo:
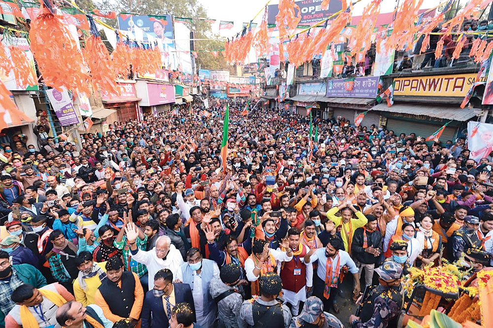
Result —
[[139, 117], [139, 101], [141, 101], [135, 90], [136, 81], [117, 81], [116, 85], [119, 89], [117, 96], [102, 92], [104, 108], [114, 110], [107, 116], [106, 121], [113, 123], [136, 120]]

